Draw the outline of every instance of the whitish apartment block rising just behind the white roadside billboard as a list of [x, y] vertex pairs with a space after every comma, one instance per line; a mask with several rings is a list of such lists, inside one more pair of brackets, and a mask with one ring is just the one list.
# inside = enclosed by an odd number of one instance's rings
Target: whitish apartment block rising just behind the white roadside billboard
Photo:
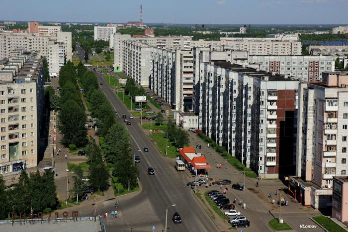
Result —
[[141, 86], [149, 86], [151, 76], [151, 49], [147, 44], [123, 41], [123, 72]]

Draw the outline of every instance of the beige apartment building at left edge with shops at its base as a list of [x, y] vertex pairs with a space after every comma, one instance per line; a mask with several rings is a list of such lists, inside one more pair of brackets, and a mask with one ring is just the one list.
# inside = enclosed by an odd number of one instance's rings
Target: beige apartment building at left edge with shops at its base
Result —
[[44, 105], [43, 62], [36, 55], [9, 58], [21, 68], [0, 80], [0, 174], [36, 167]]

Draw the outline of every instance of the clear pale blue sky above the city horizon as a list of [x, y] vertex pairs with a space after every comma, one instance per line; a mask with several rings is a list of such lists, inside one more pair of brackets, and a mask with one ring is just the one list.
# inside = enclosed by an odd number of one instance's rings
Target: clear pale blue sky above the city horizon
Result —
[[348, 24], [348, 0], [0, 0], [0, 20]]

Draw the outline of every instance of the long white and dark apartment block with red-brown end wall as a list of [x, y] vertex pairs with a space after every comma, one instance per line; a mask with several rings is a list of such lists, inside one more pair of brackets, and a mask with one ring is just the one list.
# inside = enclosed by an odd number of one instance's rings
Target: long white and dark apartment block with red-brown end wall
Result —
[[298, 80], [200, 63], [199, 129], [262, 178], [294, 173]]

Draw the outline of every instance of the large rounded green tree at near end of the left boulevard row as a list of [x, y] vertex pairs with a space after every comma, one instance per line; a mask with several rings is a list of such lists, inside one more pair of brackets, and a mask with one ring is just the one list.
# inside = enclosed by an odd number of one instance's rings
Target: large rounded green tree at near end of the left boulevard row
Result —
[[58, 128], [63, 134], [62, 143], [78, 147], [87, 143], [87, 117], [85, 111], [74, 101], [68, 100], [61, 105]]

